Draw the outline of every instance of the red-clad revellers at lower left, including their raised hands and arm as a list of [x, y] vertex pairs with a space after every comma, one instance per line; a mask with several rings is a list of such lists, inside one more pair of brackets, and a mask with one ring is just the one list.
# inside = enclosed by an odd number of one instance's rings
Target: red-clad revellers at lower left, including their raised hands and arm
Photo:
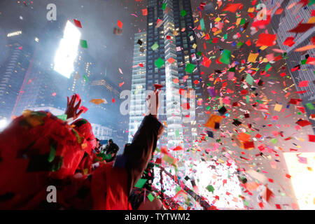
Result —
[[[158, 197], [146, 198], [155, 195], [151, 160], [164, 130], [158, 96], [155, 90], [148, 97], [148, 113], [120, 155], [112, 139], [103, 147], [90, 123], [79, 119], [77, 94], [68, 97], [66, 120], [24, 111], [0, 133], [0, 209], [164, 209]], [[135, 188], [141, 178], [146, 185]]]

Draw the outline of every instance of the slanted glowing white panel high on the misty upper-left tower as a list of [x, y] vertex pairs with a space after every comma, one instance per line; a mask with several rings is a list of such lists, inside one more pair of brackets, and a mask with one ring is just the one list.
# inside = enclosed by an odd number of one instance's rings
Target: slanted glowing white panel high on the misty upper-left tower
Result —
[[55, 71], [70, 78], [74, 71], [73, 62], [78, 55], [78, 44], [81, 33], [70, 21], [66, 22], [64, 37], [61, 39], [55, 55]]

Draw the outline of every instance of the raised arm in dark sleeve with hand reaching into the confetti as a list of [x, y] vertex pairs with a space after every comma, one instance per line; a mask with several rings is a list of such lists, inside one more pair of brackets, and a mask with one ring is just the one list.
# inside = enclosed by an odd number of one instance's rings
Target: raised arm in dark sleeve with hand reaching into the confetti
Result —
[[[155, 96], [157, 97], [156, 111], [158, 111], [158, 92], [155, 92]], [[144, 117], [138, 131], [134, 134], [132, 144], [125, 146], [123, 156], [126, 160], [125, 167], [129, 173], [128, 190], [130, 191], [128, 193], [131, 192], [132, 187], [148, 166], [163, 131], [164, 126], [158, 121], [157, 113], [155, 115], [149, 114]]]

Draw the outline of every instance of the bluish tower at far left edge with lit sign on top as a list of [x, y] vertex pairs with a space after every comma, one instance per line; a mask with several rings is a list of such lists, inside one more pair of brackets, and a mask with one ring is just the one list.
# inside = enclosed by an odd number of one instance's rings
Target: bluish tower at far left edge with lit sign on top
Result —
[[23, 44], [23, 38], [22, 31], [7, 34], [8, 43], [1, 52], [5, 60], [0, 64], [0, 119], [10, 120], [34, 55], [34, 47]]

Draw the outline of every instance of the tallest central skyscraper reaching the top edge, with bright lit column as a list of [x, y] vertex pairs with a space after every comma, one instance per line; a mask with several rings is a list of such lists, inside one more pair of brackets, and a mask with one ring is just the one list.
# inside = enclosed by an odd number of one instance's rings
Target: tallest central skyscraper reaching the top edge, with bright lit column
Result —
[[[189, 0], [148, 1], [146, 89], [152, 90], [154, 83], [164, 86], [159, 118], [167, 123], [169, 147], [191, 147], [197, 139], [200, 67], [193, 29]], [[159, 66], [161, 59], [164, 66]]]

